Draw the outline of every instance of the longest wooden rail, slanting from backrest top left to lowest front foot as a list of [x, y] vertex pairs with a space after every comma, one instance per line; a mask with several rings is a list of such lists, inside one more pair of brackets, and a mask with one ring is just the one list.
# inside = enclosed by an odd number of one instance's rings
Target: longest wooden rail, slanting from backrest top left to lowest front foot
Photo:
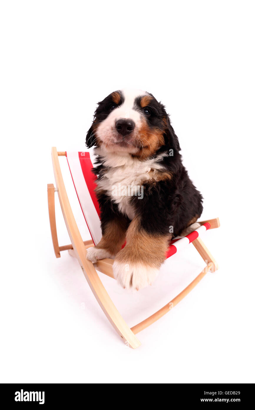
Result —
[[[65, 220], [65, 225], [72, 242], [72, 247], [74, 249], [75, 255], [81, 266], [81, 270], [95, 296], [97, 302], [101, 306], [106, 317], [111, 322], [112, 326], [115, 328], [117, 333], [126, 341], [127, 346], [136, 348], [140, 346], [140, 341], [134, 335], [132, 330], [126, 324], [121, 314], [116, 309], [113, 301], [106, 292], [104, 285], [102, 284], [93, 263], [86, 259], [86, 246], [84, 246], [81, 234], [77, 227], [77, 223], [74, 219], [72, 209], [68, 200], [68, 196], [65, 190], [65, 185], [63, 177], [61, 174], [61, 169], [59, 165], [59, 158], [56, 148], [52, 148], [52, 163], [54, 169], [54, 175], [56, 180], [56, 186], [58, 188], [59, 202], [61, 205], [61, 210]], [[89, 246], [89, 245], [87, 245]]]

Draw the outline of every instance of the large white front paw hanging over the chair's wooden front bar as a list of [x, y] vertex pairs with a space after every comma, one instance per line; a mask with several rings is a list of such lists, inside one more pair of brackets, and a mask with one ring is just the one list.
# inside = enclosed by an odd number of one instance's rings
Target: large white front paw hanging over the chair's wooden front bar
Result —
[[122, 263], [117, 260], [113, 263], [113, 275], [124, 288], [142, 289], [151, 285], [158, 276], [159, 269], [141, 263]]

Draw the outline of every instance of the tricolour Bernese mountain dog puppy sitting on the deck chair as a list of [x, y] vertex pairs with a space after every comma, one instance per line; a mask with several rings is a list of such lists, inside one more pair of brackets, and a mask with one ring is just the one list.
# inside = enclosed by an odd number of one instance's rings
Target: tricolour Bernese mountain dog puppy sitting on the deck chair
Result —
[[87, 259], [115, 258], [114, 277], [139, 290], [158, 275], [171, 239], [199, 227], [203, 198], [164, 105], [150, 93], [124, 89], [104, 98], [86, 145], [95, 146], [102, 227]]

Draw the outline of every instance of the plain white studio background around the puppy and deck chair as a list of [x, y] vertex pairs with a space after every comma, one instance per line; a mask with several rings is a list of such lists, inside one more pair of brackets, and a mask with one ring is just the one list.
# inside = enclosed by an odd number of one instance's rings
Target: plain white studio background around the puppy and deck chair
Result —
[[[254, 4], [252, 1], [2, 1], [1, 381], [254, 382]], [[84, 150], [97, 101], [138, 87], [167, 107], [204, 196], [220, 269], [126, 347], [78, 262], [54, 257], [50, 151]], [[89, 239], [61, 158], [84, 240]], [[56, 197], [57, 199], [57, 197]], [[59, 244], [68, 238], [56, 204]], [[100, 277], [133, 326], [204, 266], [192, 245], [152, 287]]]

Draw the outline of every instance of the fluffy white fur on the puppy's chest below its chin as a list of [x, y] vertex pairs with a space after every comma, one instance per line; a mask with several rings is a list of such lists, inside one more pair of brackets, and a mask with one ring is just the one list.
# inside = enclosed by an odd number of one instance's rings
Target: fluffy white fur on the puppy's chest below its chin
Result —
[[[97, 152], [95, 151], [95, 153]], [[101, 149], [98, 153], [102, 155]], [[163, 156], [165, 154], [141, 161], [131, 157], [131, 155], [105, 152], [104, 165], [109, 169], [97, 182], [97, 185], [107, 192], [111, 200], [118, 204], [120, 212], [132, 220], [135, 216], [135, 210], [130, 204], [130, 199], [133, 195], [137, 195], [138, 198], [140, 197], [138, 200], [142, 200], [142, 183], [153, 178], [154, 171], [164, 169], [161, 164], [158, 164]]]

